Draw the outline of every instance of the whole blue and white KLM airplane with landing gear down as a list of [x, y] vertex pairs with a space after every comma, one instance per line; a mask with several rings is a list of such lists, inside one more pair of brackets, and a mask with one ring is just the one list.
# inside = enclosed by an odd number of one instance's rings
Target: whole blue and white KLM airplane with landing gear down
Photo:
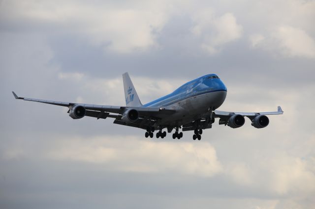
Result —
[[240, 128], [248, 117], [252, 126], [261, 129], [269, 124], [266, 115], [283, 114], [278, 106], [276, 112], [226, 112], [217, 108], [223, 104], [227, 89], [216, 74], [209, 74], [191, 80], [177, 88], [174, 92], [142, 104], [132, 84], [128, 73], [123, 74], [126, 106], [108, 106], [97, 104], [80, 104], [68, 102], [56, 102], [18, 97], [13, 91], [15, 99], [66, 106], [69, 108], [69, 116], [73, 119], [81, 119], [84, 116], [97, 119], [115, 118], [114, 124], [144, 129], [145, 137], [153, 138], [154, 131], [158, 130], [156, 137], [166, 137], [173, 130], [173, 139], [183, 137], [182, 131], [194, 131], [193, 140], [200, 140], [202, 130], [211, 129], [216, 118], [219, 125], [227, 125], [230, 128]]

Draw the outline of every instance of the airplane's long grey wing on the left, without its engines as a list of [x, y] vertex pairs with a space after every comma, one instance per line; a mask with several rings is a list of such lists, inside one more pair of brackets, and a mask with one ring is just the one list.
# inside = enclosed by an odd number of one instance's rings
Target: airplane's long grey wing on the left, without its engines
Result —
[[[31, 101], [31, 102], [38, 102], [38, 103], [45, 103], [45, 104], [54, 104], [58, 106], [67, 106], [69, 109], [73, 106], [84, 106], [87, 110], [86, 116], [95, 117], [97, 119], [106, 117], [112, 117], [116, 119], [120, 119], [121, 115], [127, 109], [135, 109], [139, 112], [139, 116], [142, 118], [162, 118], [167, 115], [175, 113], [175, 109], [170, 107], [131, 107], [131, 106], [109, 106], [109, 105], [97, 105], [97, 104], [81, 104], [81, 103], [68, 103], [68, 102], [57, 102], [57, 101], [50, 101], [50, 100], [40, 100], [40, 99], [32, 99], [32, 98], [25, 98], [25, 97], [18, 97], [12, 91], [15, 99]], [[109, 115], [109, 113], [117, 113], [119, 115]]]

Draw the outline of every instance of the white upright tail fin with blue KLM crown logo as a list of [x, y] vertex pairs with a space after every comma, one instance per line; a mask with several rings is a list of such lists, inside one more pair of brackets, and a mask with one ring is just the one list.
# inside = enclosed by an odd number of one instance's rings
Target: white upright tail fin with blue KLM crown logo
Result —
[[126, 99], [126, 106], [141, 106], [140, 99], [134, 86], [131, 82], [131, 79], [128, 73], [123, 74], [123, 81], [124, 81], [124, 90], [125, 90], [125, 99]]

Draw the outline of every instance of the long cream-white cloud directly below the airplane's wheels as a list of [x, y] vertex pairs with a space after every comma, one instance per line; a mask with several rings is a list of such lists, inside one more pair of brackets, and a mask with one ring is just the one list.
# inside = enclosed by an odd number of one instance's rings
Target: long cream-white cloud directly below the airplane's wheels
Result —
[[215, 149], [208, 143], [157, 143], [125, 136], [115, 136], [113, 141], [112, 138], [99, 136], [59, 140], [57, 146], [47, 151], [47, 157], [105, 163], [111, 170], [126, 172], [175, 172], [212, 177], [222, 170]]

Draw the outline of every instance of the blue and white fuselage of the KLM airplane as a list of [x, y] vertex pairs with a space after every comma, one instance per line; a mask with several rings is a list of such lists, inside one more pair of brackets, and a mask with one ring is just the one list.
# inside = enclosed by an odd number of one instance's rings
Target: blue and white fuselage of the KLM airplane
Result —
[[176, 113], [158, 121], [159, 125], [180, 125], [194, 121], [210, 109], [215, 110], [223, 104], [227, 89], [215, 74], [191, 80], [171, 94], [154, 100], [144, 107], [173, 107]]

